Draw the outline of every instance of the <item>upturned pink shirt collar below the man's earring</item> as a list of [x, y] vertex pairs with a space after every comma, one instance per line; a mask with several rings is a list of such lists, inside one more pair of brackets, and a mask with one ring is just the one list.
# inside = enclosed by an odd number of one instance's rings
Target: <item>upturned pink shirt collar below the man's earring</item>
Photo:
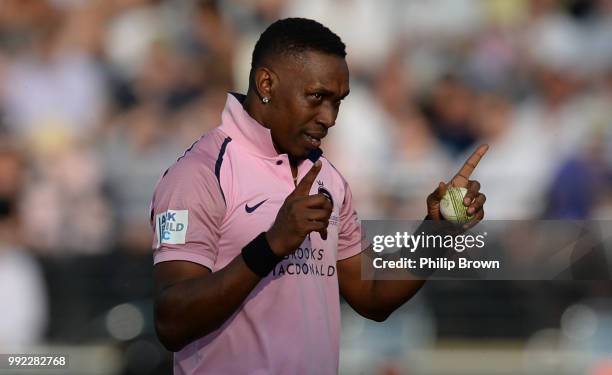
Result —
[[225, 108], [221, 114], [221, 130], [257, 155], [274, 158], [279, 154], [272, 143], [270, 129], [257, 122], [242, 107], [245, 96], [227, 94]]

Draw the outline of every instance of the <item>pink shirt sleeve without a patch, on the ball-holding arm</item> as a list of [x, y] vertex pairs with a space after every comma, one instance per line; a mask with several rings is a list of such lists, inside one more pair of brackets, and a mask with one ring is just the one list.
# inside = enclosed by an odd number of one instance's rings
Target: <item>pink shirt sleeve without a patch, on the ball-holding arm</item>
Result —
[[338, 260], [350, 258], [362, 251], [361, 223], [353, 207], [353, 194], [348, 183], [344, 183], [344, 201], [340, 208], [340, 230], [338, 233]]

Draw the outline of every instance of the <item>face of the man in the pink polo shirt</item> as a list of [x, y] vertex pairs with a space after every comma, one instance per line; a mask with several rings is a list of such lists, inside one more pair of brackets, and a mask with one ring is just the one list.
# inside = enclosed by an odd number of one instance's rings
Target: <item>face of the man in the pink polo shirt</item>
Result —
[[266, 123], [277, 151], [303, 160], [336, 122], [349, 93], [348, 66], [341, 57], [309, 51], [281, 58], [272, 70], [276, 82]]

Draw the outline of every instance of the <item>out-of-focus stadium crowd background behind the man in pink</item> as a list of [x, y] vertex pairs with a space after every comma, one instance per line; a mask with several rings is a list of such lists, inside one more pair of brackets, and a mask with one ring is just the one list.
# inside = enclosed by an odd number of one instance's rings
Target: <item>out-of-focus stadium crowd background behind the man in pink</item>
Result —
[[[324, 152], [361, 218], [423, 217], [480, 142], [488, 219], [612, 218], [611, 0], [0, 0], [0, 353], [171, 372], [149, 200], [287, 16], [347, 44]], [[611, 292], [436, 281], [384, 324], [343, 307], [341, 373], [612, 374]]]

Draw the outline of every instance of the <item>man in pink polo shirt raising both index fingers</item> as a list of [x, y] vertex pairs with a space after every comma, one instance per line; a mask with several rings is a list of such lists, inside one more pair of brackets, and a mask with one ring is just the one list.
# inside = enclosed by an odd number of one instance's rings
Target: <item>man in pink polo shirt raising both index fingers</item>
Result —
[[[229, 94], [221, 125], [160, 180], [155, 323], [176, 352], [175, 374], [334, 374], [340, 294], [382, 321], [423, 285], [361, 279], [351, 190], [319, 149], [349, 93], [345, 55], [315, 21], [272, 24], [253, 51], [247, 95]], [[465, 185], [480, 220], [480, 185]], [[431, 220], [444, 189], [428, 198]]]

